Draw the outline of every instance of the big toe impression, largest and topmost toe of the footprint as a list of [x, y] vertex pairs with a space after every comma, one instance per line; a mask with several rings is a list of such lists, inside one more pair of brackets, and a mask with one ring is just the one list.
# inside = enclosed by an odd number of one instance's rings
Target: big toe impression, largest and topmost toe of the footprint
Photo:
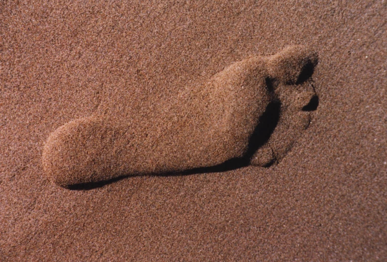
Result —
[[290, 46], [268, 61], [269, 74], [286, 84], [302, 84], [310, 78], [318, 63], [318, 55], [305, 46]]

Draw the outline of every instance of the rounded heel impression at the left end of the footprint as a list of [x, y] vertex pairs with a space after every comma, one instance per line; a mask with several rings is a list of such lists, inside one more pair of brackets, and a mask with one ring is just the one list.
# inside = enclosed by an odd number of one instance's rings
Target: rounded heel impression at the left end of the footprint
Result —
[[[109, 179], [117, 168], [112, 159], [114, 130], [101, 120], [83, 118], [71, 121], [50, 134], [43, 149], [42, 164], [49, 180], [64, 187]], [[114, 159], [114, 158], [113, 158]]]

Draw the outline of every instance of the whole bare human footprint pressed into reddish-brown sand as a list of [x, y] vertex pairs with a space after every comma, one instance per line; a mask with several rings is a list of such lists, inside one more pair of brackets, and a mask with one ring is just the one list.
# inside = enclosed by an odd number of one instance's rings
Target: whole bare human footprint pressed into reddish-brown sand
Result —
[[277, 163], [318, 106], [309, 80], [317, 60], [308, 48], [291, 46], [232, 64], [158, 118], [115, 113], [71, 121], [46, 141], [45, 174], [72, 187], [128, 175]]

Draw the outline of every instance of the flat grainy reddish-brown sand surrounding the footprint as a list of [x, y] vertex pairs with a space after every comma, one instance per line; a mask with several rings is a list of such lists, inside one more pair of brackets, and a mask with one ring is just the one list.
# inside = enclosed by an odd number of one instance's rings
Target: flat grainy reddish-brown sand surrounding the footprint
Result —
[[[0, 261], [386, 261], [386, 17], [386, 0], [1, 1]], [[277, 165], [46, 178], [45, 141], [69, 121], [146, 119], [295, 44], [318, 52], [319, 106]]]

